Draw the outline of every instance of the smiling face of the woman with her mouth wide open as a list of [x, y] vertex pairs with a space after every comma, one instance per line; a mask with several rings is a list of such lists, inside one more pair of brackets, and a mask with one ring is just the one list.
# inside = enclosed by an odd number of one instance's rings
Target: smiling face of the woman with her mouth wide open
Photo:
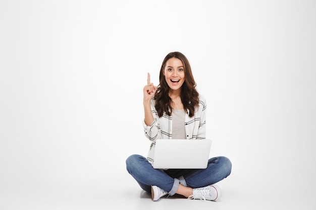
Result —
[[184, 83], [184, 66], [179, 58], [167, 60], [164, 68], [166, 82], [172, 90], [180, 90]]

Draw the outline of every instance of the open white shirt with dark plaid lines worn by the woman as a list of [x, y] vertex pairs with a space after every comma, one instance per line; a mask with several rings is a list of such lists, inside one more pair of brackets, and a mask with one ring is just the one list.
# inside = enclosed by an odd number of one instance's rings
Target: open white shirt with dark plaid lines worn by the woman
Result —
[[[184, 127], [187, 139], [205, 139], [206, 136], [206, 100], [203, 96], [199, 96], [199, 107], [194, 110], [194, 116], [189, 117], [185, 114]], [[172, 139], [172, 116], [163, 115], [157, 116], [155, 109], [155, 100], [151, 99], [150, 106], [154, 121], [147, 126], [143, 121], [145, 136], [151, 141], [147, 160], [153, 162], [153, 154], [155, 147], [155, 140], [164, 138]], [[187, 110], [189, 112], [189, 110]]]

